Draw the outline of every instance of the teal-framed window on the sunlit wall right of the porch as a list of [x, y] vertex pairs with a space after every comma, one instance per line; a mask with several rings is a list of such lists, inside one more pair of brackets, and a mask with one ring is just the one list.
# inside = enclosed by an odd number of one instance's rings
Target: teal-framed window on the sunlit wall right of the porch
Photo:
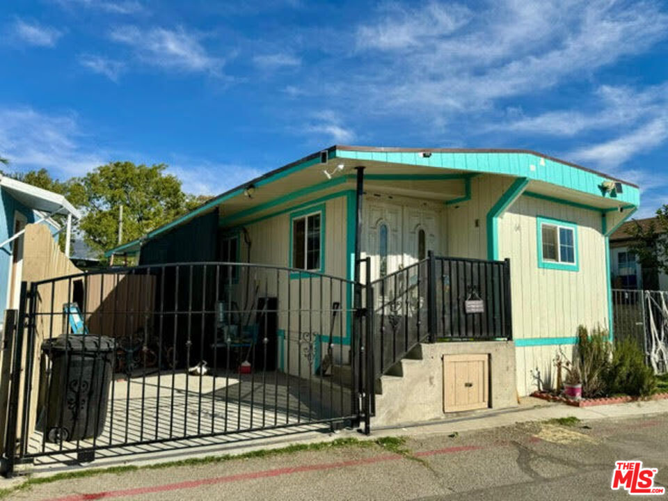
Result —
[[578, 271], [578, 227], [574, 223], [538, 217], [540, 268]]

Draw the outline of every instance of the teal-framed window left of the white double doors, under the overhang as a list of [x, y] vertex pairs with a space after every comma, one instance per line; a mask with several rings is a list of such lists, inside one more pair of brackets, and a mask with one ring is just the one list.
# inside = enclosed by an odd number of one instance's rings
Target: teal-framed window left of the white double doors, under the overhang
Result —
[[324, 205], [292, 214], [290, 266], [324, 271]]

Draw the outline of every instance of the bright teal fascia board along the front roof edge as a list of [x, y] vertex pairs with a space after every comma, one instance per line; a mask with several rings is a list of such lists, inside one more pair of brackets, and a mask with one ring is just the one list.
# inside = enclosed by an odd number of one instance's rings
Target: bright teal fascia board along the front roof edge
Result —
[[613, 198], [618, 202], [628, 202], [630, 205], [639, 205], [640, 201], [640, 191], [635, 186], [622, 183], [623, 193], [614, 193], [614, 196], [611, 196], [610, 193], [605, 193], [601, 189], [603, 182], [609, 179], [605, 175], [543, 157], [534, 152], [433, 151], [429, 157], [421, 157], [418, 151], [361, 151], [350, 148], [337, 149], [335, 156], [360, 161], [379, 161], [527, 177], [529, 180], [548, 182], [601, 198]]

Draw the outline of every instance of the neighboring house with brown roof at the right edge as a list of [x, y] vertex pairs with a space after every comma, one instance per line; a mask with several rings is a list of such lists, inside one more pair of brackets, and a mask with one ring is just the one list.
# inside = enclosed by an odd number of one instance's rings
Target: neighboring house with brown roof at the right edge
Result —
[[[657, 269], [643, 269], [631, 252], [634, 238], [630, 230], [636, 225], [641, 225], [644, 229], [649, 228], [652, 221], [656, 222], [656, 218], [627, 221], [619, 227], [619, 230], [610, 235], [612, 287], [668, 290], [668, 275]], [[655, 225], [655, 228], [660, 231], [659, 225]]]

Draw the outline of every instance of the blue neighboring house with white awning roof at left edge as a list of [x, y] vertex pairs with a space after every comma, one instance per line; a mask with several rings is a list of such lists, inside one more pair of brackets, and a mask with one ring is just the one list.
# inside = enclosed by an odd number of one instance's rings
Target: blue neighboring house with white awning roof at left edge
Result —
[[72, 217], [79, 219], [79, 211], [65, 197], [10, 177], [0, 176], [0, 331], [5, 310], [19, 308], [23, 264], [23, 233], [29, 223], [48, 226], [54, 238], [62, 230], [51, 219], [60, 214], [67, 216], [65, 231], [70, 235]]

